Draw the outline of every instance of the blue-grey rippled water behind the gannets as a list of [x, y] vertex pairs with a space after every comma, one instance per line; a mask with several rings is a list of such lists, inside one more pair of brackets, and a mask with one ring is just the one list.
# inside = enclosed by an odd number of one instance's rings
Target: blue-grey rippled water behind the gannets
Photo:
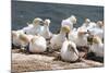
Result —
[[93, 22], [104, 20], [104, 7], [98, 5], [80, 5], [64, 3], [45, 3], [12, 1], [12, 29], [21, 29], [32, 23], [35, 17], [50, 19], [50, 31], [57, 33], [60, 29], [61, 21], [74, 14], [77, 17], [78, 27], [84, 23], [86, 17]]

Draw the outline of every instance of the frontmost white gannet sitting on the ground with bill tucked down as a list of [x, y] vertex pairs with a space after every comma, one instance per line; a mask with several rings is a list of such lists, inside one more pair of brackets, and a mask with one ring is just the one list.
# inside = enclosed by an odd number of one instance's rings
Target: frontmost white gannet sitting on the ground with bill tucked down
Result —
[[61, 48], [61, 58], [64, 61], [76, 61], [78, 59], [76, 45], [70, 40], [64, 40]]

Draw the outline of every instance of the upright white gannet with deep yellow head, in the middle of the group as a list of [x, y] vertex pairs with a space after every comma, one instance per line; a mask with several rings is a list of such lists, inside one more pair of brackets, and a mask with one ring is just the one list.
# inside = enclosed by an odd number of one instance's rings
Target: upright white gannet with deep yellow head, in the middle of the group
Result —
[[70, 32], [70, 27], [64, 25], [61, 27], [60, 34], [53, 35], [50, 39], [50, 46], [52, 49], [60, 49], [62, 47], [63, 41], [66, 39], [66, 33]]

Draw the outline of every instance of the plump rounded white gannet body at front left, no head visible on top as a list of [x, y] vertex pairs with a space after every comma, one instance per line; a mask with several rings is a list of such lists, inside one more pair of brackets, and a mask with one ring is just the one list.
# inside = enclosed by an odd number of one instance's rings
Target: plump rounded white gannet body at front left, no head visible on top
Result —
[[44, 52], [47, 49], [46, 39], [43, 36], [34, 36], [29, 42], [29, 52]]

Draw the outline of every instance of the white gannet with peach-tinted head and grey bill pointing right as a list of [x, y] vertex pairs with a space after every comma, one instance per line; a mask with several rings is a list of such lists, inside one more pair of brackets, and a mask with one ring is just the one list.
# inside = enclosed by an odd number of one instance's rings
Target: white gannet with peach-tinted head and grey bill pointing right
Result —
[[80, 27], [69, 34], [69, 39], [74, 41], [76, 46], [87, 46], [87, 32]]

